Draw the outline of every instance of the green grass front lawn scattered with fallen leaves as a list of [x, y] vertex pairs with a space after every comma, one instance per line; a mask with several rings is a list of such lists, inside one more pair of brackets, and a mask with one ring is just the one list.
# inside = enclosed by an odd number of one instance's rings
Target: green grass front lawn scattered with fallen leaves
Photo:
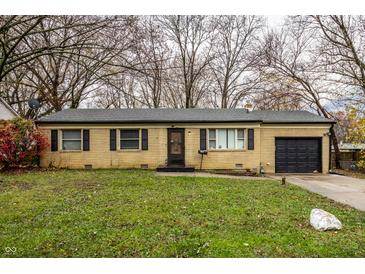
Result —
[[[308, 219], [315, 207], [335, 214], [343, 230], [313, 230]], [[137, 170], [0, 174], [0, 252], [365, 257], [365, 212], [269, 180], [160, 177]]]

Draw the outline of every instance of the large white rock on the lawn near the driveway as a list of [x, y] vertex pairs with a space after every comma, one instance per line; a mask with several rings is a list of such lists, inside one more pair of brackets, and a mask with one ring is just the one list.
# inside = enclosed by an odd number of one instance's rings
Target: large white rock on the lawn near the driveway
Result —
[[314, 229], [320, 231], [339, 230], [342, 228], [341, 222], [335, 215], [318, 208], [312, 209], [310, 223]]

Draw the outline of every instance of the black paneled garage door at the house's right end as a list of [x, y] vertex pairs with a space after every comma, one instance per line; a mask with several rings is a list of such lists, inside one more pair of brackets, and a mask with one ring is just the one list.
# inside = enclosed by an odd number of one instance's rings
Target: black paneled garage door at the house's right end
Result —
[[322, 138], [275, 138], [276, 173], [322, 172]]

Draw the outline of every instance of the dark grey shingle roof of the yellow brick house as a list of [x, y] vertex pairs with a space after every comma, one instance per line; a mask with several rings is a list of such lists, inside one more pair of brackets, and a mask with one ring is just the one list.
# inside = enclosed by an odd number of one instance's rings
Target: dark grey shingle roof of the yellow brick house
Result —
[[65, 109], [37, 123], [263, 122], [333, 123], [308, 111], [245, 109]]

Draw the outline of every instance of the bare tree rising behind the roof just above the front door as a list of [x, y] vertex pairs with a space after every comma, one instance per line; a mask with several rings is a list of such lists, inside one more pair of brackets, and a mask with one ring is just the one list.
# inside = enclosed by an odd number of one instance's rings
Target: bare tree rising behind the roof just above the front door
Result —
[[[214, 58], [212, 55], [213, 29], [209, 16], [163, 16], [159, 18], [176, 48], [174, 69], [182, 81], [184, 107], [198, 105], [202, 98], [200, 81]], [[179, 91], [176, 91], [179, 92]]]

